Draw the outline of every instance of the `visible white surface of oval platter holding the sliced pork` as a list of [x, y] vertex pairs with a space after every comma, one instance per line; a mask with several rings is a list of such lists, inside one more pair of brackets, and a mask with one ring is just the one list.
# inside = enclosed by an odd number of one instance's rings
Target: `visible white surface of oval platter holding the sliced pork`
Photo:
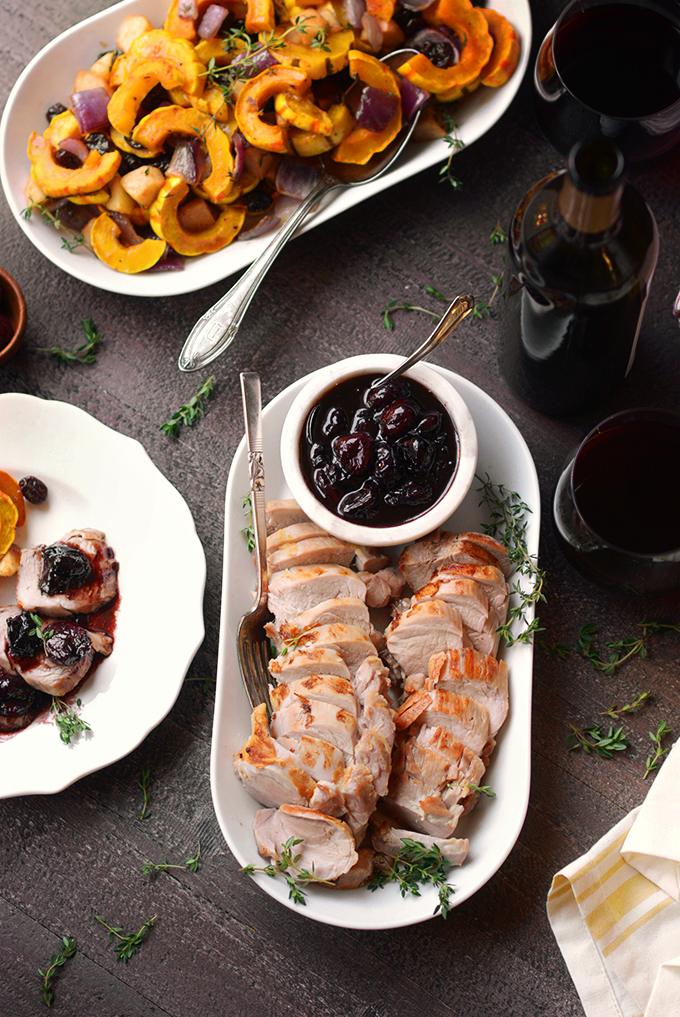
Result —
[[[541, 499], [536, 468], [524, 439], [505, 412], [481, 388], [445, 368], [435, 369], [460, 391], [471, 408], [480, 437], [479, 475], [488, 474], [492, 480], [517, 490], [530, 506], [528, 547], [531, 554], [538, 554]], [[323, 370], [318, 374], [322, 375]], [[279, 434], [292, 400], [312, 376], [289, 386], [264, 410], [267, 497], [290, 496], [275, 455]], [[253, 561], [242, 533], [243, 496], [247, 490], [247, 453], [245, 441], [242, 441], [232, 463], [226, 492], [220, 653], [210, 751], [210, 788], [215, 815], [225, 840], [240, 865], [258, 863], [252, 820], [259, 806], [248, 795], [232, 767], [233, 754], [250, 731], [250, 710], [236, 658], [236, 626], [241, 614], [252, 606], [254, 585]], [[458, 508], [451, 526], [472, 529], [479, 523], [479, 495], [473, 490]], [[463, 821], [465, 835], [471, 836], [471, 850], [466, 863], [450, 874], [450, 882], [455, 887], [453, 907], [476, 893], [501, 866], [519, 836], [529, 805], [533, 648], [515, 643], [505, 649], [503, 657], [510, 675], [510, 715], [499, 732], [494, 761], [485, 777], [492, 783], [497, 796], [493, 801], [481, 801]], [[462, 829], [460, 835], [463, 835]], [[307, 905], [299, 907], [289, 899], [283, 880], [262, 874], [254, 874], [251, 878], [265, 893], [297, 914], [346, 929], [382, 930], [415, 924], [432, 917], [437, 903], [436, 891], [430, 887], [423, 888], [421, 897], [403, 899], [396, 886], [390, 884], [375, 893], [365, 889], [341, 893], [309, 887]]]

